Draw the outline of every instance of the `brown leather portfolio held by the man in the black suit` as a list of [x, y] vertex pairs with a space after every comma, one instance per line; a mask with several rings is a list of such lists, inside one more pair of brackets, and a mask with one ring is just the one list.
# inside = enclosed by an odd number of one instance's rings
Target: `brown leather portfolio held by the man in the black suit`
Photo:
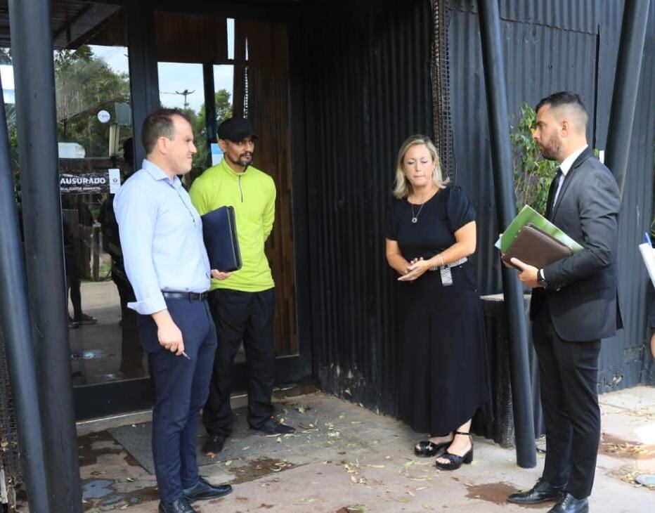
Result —
[[512, 265], [510, 259], [517, 258], [540, 269], [563, 258], [571, 257], [572, 254], [570, 247], [562, 244], [552, 235], [533, 224], [526, 224], [507, 248], [507, 252], [502, 255], [502, 260]]

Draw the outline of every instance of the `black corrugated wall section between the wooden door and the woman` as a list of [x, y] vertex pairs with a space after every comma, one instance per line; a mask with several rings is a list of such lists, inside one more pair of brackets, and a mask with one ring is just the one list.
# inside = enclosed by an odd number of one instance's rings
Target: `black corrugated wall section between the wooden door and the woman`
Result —
[[326, 391], [393, 411], [394, 283], [384, 212], [398, 146], [409, 134], [432, 133], [429, 2], [308, 9], [301, 65], [310, 264], [298, 286], [311, 283], [313, 370]]

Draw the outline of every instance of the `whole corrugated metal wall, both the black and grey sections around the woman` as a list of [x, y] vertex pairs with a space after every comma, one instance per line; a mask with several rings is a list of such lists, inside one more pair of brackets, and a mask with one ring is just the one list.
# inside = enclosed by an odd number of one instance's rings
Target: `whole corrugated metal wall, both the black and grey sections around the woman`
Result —
[[[590, 110], [590, 141], [603, 149], [621, 2], [500, 4], [510, 110], [518, 112], [524, 100], [534, 105], [548, 93], [575, 89]], [[643, 359], [649, 284], [636, 246], [652, 217], [653, 11], [621, 218], [626, 329], [603, 346], [601, 391], [638, 383]], [[410, 134], [432, 134], [431, 6], [428, 0], [318, 1], [305, 4], [297, 27], [301, 48], [292, 56], [292, 91], [302, 89], [303, 100], [292, 92], [292, 116], [302, 119], [304, 150], [300, 159], [294, 151], [294, 187], [300, 186], [294, 197], [306, 195], [307, 202], [303, 212], [294, 211], [294, 222], [307, 234], [299, 252], [309, 271], [297, 283], [309, 298], [299, 308], [311, 318], [313, 371], [325, 391], [395, 413], [396, 298], [384, 258], [384, 216], [398, 146]], [[453, 13], [450, 56], [453, 178], [478, 211], [481, 293], [501, 292], [479, 21], [472, 1]]]

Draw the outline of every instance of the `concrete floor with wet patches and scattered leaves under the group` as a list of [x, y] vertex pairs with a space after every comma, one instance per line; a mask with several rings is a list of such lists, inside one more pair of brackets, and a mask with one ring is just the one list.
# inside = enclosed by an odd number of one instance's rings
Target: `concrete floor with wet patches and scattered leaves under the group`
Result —
[[[601, 403], [603, 438], [590, 509], [655, 512], [655, 489], [634, 483], [636, 474], [655, 473], [655, 388], [605, 394]], [[266, 449], [261, 439], [252, 436], [230, 439], [226, 453], [232, 459], [218, 455], [200, 471], [214, 483], [233, 483], [234, 492], [197, 502], [198, 511], [372, 513], [473, 508], [510, 513], [550, 508], [505, 501], [515, 489], [532, 486], [543, 467], [542, 453], [536, 468], [521, 469], [512, 448], [475, 439], [472, 465], [441, 472], [432, 458], [413, 455], [420, 436], [391, 417], [320, 393], [285, 398], [277, 406], [282, 417], [297, 422], [298, 433], [269, 437]], [[259, 448], [257, 452], [251, 445]], [[154, 476], [108, 431], [80, 436], [79, 455], [86, 512], [157, 511]]]

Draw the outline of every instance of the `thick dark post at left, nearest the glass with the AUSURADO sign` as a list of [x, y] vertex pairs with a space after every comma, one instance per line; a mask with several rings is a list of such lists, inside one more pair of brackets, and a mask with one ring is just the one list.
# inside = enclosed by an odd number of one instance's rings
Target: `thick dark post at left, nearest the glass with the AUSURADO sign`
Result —
[[9, 0], [27, 290], [53, 512], [82, 512], [72, 402], [50, 2]]

